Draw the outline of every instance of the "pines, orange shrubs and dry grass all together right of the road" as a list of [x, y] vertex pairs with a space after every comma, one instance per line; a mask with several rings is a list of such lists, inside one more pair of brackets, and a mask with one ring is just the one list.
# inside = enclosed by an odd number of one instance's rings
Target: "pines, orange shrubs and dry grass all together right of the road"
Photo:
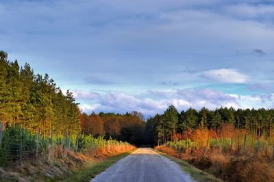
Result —
[[147, 128], [156, 149], [224, 181], [273, 181], [273, 116], [265, 109], [178, 113], [170, 106], [150, 118]]

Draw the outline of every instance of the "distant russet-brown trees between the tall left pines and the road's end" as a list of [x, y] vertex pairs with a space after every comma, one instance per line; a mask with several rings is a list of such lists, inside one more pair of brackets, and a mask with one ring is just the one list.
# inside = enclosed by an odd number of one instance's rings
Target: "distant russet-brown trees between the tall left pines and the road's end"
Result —
[[134, 145], [146, 142], [145, 119], [140, 112], [126, 112], [124, 115], [115, 113], [92, 112], [81, 115], [81, 128], [84, 134], [93, 136], [104, 135], [105, 138], [127, 141]]

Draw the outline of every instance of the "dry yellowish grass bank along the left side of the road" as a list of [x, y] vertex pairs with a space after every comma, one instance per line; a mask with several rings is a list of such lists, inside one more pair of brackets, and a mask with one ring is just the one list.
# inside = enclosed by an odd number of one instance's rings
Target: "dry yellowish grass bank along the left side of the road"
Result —
[[[0, 168], [0, 181], [45, 181], [51, 179], [62, 179], [64, 175], [71, 175], [84, 168], [86, 164], [97, 164], [108, 157], [119, 155], [134, 149], [127, 145], [110, 146], [110, 148], [99, 148], [95, 151], [75, 153], [65, 151], [61, 147], [55, 147], [53, 157], [43, 155], [39, 159], [25, 160], [21, 167]], [[51, 158], [51, 160], [49, 160]]]

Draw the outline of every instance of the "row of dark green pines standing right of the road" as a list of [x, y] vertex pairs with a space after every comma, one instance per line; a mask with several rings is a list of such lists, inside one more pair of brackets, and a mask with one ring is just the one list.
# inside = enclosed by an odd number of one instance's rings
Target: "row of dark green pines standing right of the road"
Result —
[[224, 124], [234, 125], [235, 128], [272, 136], [274, 124], [274, 109], [260, 108], [234, 109], [216, 108], [209, 110], [188, 108], [178, 112], [175, 106], [169, 106], [162, 115], [155, 115], [147, 119], [145, 133], [147, 142], [156, 145], [173, 140], [176, 134], [184, 134], [199, 128], [219, 131]]

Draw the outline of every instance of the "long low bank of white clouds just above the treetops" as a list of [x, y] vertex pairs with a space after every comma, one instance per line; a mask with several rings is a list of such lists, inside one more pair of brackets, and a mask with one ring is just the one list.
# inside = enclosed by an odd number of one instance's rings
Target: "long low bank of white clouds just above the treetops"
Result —
[[274, 94], [236, 95], [212, 89], [150, 91], [149, 94], [142, 98], [127, 93], [101, 93], [99, 97], [94, 97], [94, 100], [83, 100], [80, 108], [88, 113], [92, 110], [121, 113], [137, 110], [148, 116], [164, 112], [171, 104], [179, 111], [189, 107], [200, 109], [203, 106], [209, 109], [222, 106], [234, 108], [273, 108], [274, 106]]

